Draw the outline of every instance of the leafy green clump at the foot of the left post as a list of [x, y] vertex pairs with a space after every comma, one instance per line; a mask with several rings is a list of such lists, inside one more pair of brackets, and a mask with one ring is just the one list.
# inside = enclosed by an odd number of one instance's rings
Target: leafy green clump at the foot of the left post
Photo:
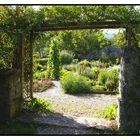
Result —
[[46, 112], [50, 111], [50, 103], [42, 98], [33, 98], [29, 102], [29, 111], [31, 112]]

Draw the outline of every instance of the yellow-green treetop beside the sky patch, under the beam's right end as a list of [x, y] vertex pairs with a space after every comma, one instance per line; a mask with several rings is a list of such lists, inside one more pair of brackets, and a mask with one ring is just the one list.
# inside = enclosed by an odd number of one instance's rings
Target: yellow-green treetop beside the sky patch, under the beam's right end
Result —
[[123, 32], [115, 34], [111, 40], [112, 45], [125, 47], [127, 45], [126, 38]]

